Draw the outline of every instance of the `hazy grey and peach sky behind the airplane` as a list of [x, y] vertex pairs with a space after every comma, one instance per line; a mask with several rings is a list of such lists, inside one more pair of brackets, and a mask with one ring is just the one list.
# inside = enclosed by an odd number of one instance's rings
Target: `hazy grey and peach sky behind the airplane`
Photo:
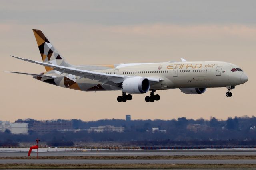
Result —
[[[254, 0], [2, 0], [0, 2], [0, 120], [16, 119], [227, 119], [255, 116], [256, 1]], [[121, 91], [81, 92], [31, 76], [44, 67], [32, 29], [40, 29], [73, 65], [180, 61], [226, 61], [240, 66], [248, 82], [190, 95], [158, 90], [158, 102]]]

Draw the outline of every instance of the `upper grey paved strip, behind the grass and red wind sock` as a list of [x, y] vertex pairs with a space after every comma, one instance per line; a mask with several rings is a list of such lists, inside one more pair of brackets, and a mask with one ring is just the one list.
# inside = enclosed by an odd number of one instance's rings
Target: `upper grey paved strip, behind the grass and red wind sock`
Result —
[[[39, 152], [39, 156], [174, 156], [174, 155], [256, 155], [256, 150], [137, 150], [137, 151], [84, 151], [84, 152]], [[28, 152], [0, 152], [0, 157], [22, 157], [28, 156]], [[36, 156], [36, 152], [32, 152], [31, 156]]]

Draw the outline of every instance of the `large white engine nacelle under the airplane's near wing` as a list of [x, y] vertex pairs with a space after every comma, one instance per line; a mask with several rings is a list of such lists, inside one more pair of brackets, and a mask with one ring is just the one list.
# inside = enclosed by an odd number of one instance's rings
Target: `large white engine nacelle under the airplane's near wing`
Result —
[[148, 92], [150, 82], [145, 77], [131, 77], [126, 78], [122, 84], [123, 92], [131, 94], [140, 94]]

